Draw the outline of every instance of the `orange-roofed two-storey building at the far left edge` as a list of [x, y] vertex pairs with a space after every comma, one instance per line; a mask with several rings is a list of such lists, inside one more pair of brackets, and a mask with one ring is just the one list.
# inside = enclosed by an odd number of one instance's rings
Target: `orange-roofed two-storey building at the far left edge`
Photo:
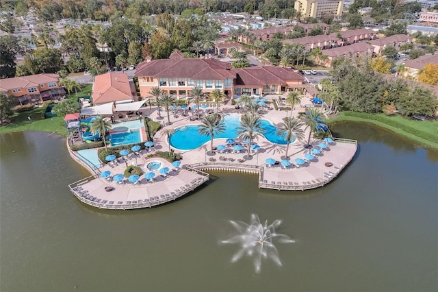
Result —
[[61, 99], [66, 95], [60, 86], [60, 76], [51, 73], [1, 79], [0, 92], [16, 97], [21, 106]]

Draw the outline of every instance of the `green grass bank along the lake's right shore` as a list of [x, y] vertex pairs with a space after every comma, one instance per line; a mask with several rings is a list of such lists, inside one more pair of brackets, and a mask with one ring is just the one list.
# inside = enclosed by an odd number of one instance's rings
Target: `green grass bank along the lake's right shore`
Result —
[[418, 143], [430, 145], [438, 149], [438, 121], [420, 121], [400, 115], [387, 116], [386, 114], [364, 114], [362, 112], [341, 112], [337, 117], [326, 121], [363, 121], [385, 127], [392, 132], [411, 138]]

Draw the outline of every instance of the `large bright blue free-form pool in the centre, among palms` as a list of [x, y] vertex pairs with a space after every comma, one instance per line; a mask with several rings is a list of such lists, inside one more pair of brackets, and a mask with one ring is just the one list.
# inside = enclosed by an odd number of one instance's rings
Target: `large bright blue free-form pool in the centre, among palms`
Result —
[[[237, 127], [240, 126], [240, 114], [227, 114], [224, 116], [225, 132], [216, 138], [237, 138]], [[261, 127], [265, 129], [263, 136], [275, 144], [287, 144], [287, 141], [276, 136], [276, 127], [269, 121], [262, 119]], [[201, 147], [205, 142], [210, 141], [210, 136], [201, 135], [197, 125], [185, 125], [178, 127], [175, 134], [170, 135], [170, 145], [181, 150], [190, 150]], [[294, 141], [295, 139], [293, 139]]]

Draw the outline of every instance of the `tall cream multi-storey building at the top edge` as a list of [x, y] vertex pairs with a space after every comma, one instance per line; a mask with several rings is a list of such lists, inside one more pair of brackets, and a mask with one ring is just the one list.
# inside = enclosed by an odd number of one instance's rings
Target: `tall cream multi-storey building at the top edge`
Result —
[[316, 19], [329, 14], [342, 15], [344, 8], [343, 0], [296, 0], [295, 10], [301, 13], [303, 18], [314, 17]]

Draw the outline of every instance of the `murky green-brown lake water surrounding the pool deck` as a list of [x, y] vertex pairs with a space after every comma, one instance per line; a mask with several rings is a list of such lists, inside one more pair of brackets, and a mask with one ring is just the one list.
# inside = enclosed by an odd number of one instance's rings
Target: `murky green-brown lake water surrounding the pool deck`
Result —
[[[0, 291], [437, 291], [438, 154], [356, 123], [355, 160], [311, 191], [257, 188], [255, 175], [213, 172], [177, 202], [143, 210], [81, 204], [88, 176], [64, 138], [0, 136]], [[231, 263], [229, 220], [283, 219], [282, 267]]]

